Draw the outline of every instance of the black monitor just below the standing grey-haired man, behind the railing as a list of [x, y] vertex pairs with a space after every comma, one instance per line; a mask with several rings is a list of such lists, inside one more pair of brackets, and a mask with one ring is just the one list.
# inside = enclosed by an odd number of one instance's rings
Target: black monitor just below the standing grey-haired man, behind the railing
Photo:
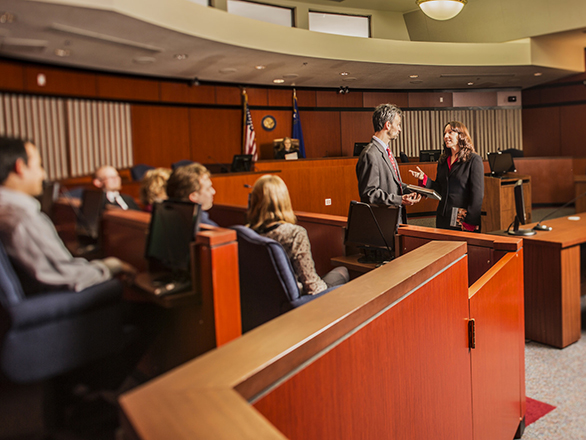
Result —
[[344, 244], [360, 248], [363, 257], [358, 261], [378, 264], [393, 259], [400, 212], [398, 206], [350, 202]]

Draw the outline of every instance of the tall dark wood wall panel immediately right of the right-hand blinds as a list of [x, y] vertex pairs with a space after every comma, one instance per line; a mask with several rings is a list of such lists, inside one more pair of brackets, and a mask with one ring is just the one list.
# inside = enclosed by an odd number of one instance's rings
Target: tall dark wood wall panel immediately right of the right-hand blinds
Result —
[[559, 107], [523, 109], [525, 156], [560, 156]]

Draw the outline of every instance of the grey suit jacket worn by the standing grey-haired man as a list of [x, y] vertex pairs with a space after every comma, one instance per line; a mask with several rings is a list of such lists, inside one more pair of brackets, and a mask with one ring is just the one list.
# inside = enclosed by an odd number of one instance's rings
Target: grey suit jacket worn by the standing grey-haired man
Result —
[[360, 201], [364, 203], [401, 206], [401, 195], [410, 192], [395, 173], [386, 149], [374, 139], [360, 153], [356, 177]]

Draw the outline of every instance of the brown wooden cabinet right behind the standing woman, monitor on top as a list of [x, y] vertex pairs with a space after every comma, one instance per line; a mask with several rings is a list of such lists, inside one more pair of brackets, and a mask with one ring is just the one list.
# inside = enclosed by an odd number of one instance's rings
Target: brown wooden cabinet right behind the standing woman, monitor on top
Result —
[[531, 176], [508, 173], [503, 177], [484, 176], [482, 232], [507, 229], [515, 220], [515, 185], [523, 181], [525, 223], [531, 223]]

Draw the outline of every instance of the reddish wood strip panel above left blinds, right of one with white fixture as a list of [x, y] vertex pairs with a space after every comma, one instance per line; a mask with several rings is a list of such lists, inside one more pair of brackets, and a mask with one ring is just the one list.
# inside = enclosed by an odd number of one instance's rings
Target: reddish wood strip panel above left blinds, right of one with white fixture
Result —
[[159, 101], [159, 82], [141, 78], [98, 75], [98, 96], [130, 101]]

